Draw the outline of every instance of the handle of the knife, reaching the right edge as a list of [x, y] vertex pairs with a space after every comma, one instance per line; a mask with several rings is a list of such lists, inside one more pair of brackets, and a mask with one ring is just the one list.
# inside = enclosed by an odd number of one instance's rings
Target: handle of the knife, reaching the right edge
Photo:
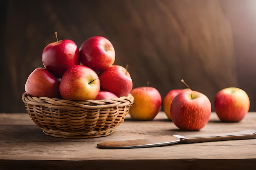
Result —
[[[176, 135], [174, 135], [176, 136]], [[193, 135], [180, 136], [180, 143], [199, 143], [207, 141], [225, 141], [238, 139], [254, 139], [256, 138], [256, 130], [245, 130], [241, 132], [221, 133], [215, 135]]]

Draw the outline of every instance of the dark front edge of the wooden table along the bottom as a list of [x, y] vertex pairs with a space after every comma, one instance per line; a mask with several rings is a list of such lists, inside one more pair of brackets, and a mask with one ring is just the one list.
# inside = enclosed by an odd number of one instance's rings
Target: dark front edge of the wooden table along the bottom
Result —
[[[36, 170], [54, 169], [54, 170], [244, 170], [253, 169], [255, 159], [245, 160], [204, 160], [204, 159], [173, 159], [173, 160], [127, 160], [125, 164], [119, 164], [120, 160], [102, 160], [102, 161], [44, 161], [36, 162], [26, 160], [2, 161], [0, 168], [4, 170], [28, 170], [28, 167], [36, 167]], [[121, 162], [122, 163], [122, 162]], [[104, 167], [104, 168], [102, 168]], [[33, 169], [33, 168], [31, 168]]]

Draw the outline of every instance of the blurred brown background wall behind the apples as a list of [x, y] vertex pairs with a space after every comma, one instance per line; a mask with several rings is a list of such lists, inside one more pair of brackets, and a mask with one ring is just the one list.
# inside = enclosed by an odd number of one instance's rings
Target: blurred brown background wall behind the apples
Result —
[[[1, 0], [0, 112], [25, 112], [29, 74], [58, 38], [80, 46], [101, 35], [133, 87], [150, 82], [162, 98], [189, 86], [209, 97], [235, 86], [256, 111], [256, 0]], [[213, 108], [214, 111], [214, 108]]]

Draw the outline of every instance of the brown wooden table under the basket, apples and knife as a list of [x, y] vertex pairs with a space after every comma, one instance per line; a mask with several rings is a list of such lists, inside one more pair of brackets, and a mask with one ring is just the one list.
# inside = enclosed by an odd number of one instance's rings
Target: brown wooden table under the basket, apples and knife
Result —
[[182, 131], [160, 112], [153, 121], [135, 121], [128, 115], [107, 137], [63, 139], [45, 135], [27, 113], [0, 113], [0, 170], [254, 169], [256, 139], [137, 149], [97, 148], [102, 141], [248, 129], [256, 129], [256, 113], [248, 113], [238, 123], [223, 123], [216, 113], [211, 113], [209, 123], [202, 130]]

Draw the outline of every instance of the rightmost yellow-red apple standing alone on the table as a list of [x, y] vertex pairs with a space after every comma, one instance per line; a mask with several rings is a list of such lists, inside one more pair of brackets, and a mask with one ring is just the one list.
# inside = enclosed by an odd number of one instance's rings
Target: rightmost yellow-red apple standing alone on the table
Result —
[[245, 91], [237, 87], [220, 90], [214, 100], [215, 112], [221, 121], [241, 121], [249, 111], [250, 100]]

